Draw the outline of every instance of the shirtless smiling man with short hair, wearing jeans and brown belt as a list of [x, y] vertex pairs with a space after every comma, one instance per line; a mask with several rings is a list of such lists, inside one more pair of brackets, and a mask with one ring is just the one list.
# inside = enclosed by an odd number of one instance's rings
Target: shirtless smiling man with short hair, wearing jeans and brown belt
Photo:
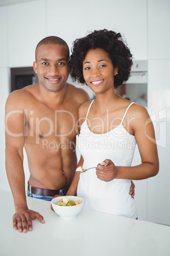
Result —
[[13, 91], [6, 101], [6, 173], [15, 203], [13, 228], [19, 232], [32, 231], [36, 218], [44, 223], [42, 215], [27, 206], [23, 146], [30, 171], [28, 196], [51, 200], [65, 195], [74, 177], [78, 108], [89, 96], [67, 83], [68, 62], [63, 39], [42, 39], [33, 64], [39, 83]]

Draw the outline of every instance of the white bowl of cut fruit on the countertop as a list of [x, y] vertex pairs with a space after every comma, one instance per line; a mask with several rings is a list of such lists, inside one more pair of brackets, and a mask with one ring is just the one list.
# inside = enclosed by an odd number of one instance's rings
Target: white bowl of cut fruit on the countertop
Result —
[[51, 200], [51, 205], [62, 220], [72, 220], [82, 210], [84, 199], [78, 196], [61, 196]]

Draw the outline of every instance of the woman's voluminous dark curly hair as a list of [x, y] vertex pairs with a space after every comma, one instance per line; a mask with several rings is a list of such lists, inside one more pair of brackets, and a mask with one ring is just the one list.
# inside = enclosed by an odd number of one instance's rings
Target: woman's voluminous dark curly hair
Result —
[[119, 69], [115, 76], [114, 87], [117, 88], [126, 82], [131, 73], [133, 64], [132, 54], [124, 43], [120, 33], [108, 31], [107, 29], [94, 31], [88, 36], [74, 41], [72, 55], [70, 56], [70, 75], [79, 83], [86, 83], [82, 73], [82, 62], [90, 49], [101, 48], [108, 53], [114, 68]]

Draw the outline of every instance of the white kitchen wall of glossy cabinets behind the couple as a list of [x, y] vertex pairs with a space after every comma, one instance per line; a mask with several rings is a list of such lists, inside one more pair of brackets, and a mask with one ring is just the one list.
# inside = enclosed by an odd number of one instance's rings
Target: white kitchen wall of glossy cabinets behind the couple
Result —
[[[141, 220], [170, 225], [169, 115], [170, 24], [169, 0], [39, 0], [0, 8], [0, 188], [10, 190], [4, 164], [4, 104], [10, 93], [10, 68], [32, 66], [37, 43], [50, 35], [76, 38], [95, 29], [121, 32], [136, 60], [148, 60], [148, 112], [154, 120], [160, 172], [135, 181]], [[84, 87], [86, 88], [86, 87]], [[24, 154], [25, 155], [25, 154]], [[133, 164], [140, 163], [136, 150]], [[24, 158], [25, 180], [29, 178]]]

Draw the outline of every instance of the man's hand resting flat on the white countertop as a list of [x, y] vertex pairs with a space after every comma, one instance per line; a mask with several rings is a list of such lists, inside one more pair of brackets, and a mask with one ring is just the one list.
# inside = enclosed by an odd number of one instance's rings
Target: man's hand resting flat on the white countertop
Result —
[[18, 232], [23, 233], [26, 233], [27, 230], [32, 231], [32, 220], [36, 218], [41, 223], [45, 223], [44, 218], [37, 211], [20, 208], [13, 215], [13, 229], [18, 229]]

